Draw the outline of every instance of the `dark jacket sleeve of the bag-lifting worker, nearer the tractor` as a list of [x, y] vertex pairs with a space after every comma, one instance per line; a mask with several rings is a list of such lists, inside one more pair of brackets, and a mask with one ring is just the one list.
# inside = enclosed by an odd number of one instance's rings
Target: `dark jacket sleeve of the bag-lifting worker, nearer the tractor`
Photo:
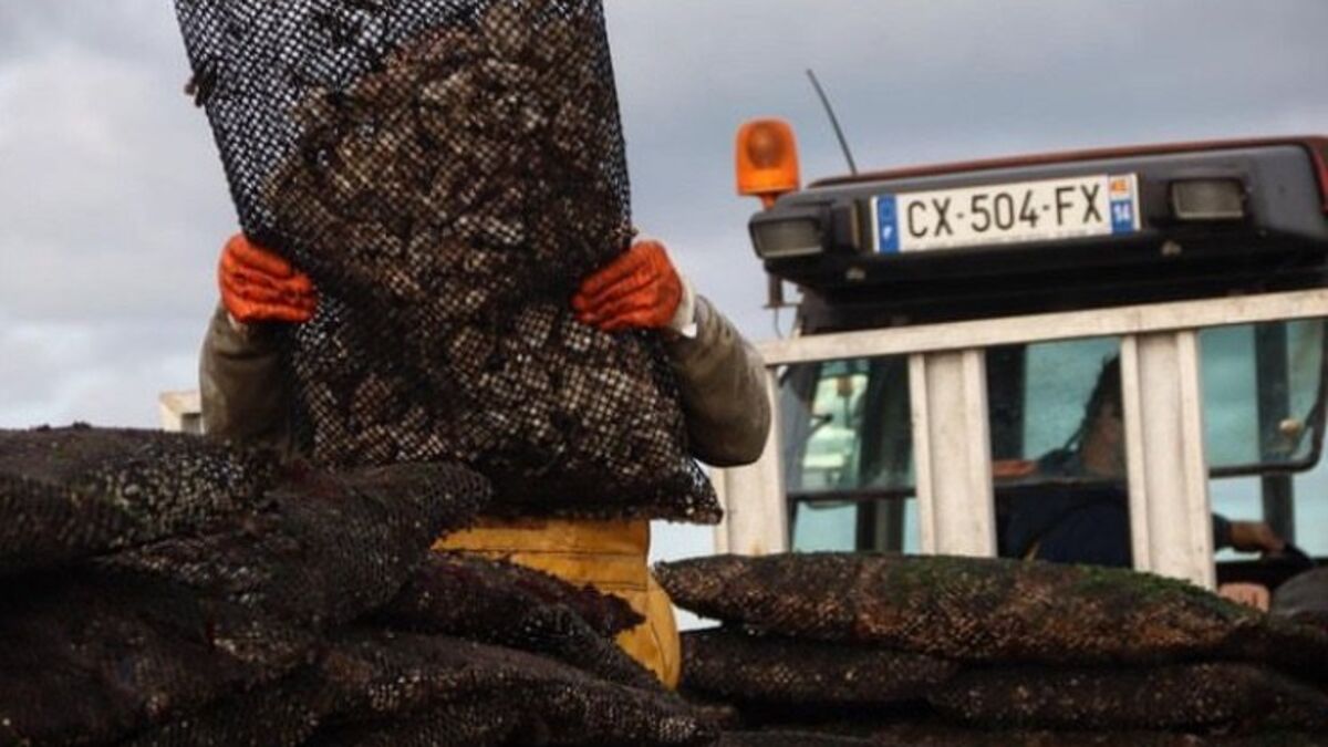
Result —
[[696, 336], [675, 338], [687, 431], [696, 459], [738, 467], [761, 459], [770, 432], [770, 400], [761, 355], [710, 303], [696, 298]]

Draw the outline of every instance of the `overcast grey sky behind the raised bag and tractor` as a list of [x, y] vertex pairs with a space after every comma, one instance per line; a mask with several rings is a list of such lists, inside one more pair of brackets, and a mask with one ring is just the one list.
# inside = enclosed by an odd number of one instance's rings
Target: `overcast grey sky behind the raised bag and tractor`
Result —
[[[635, 215], [754, 338], [737, 125], [861, 165], [1328, 132], [1324, 0], [607, 0]], [[169, 0], [0, 0], [0, 427], [154, 425], [235, 230]]]

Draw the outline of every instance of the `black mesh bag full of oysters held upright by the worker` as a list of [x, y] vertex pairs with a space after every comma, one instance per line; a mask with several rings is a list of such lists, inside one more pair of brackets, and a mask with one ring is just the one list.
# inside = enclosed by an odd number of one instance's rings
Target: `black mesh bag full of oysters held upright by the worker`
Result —
[[599, 0], [175, 7], [246, 233], [320, 288], [290, 340], [317, 460], [458, 459], [526, 514], [717, 520], [660, 342], [568, 310], [631, 235]]

